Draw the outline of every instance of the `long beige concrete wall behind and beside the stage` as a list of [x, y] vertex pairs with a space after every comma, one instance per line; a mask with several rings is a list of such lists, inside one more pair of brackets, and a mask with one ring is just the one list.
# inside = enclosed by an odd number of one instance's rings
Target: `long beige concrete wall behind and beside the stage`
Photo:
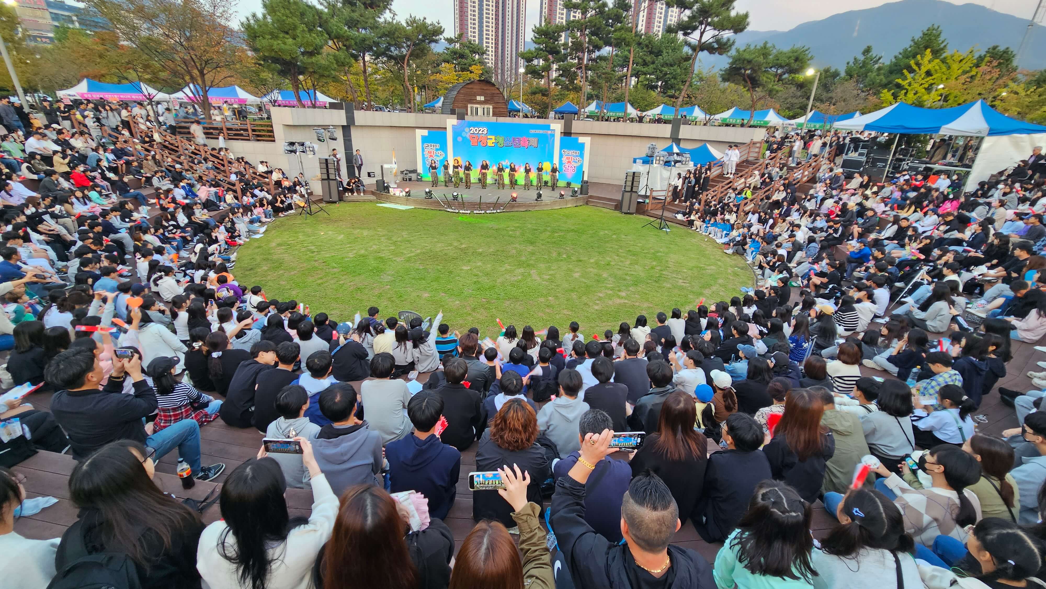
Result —
[[[353, 144], [363, 155], [363, 179], [368, 185], [381, 178], [381, 165], [391, 163], [392, 151], [395, 150], [396, 163], [401, 169], [417, 169], [416, 134], [417, 129], [446, 130], [448, 120], [455, 120], [454, 115], [431, 113], [386, 113], [374, 111], [356, 111], [355, 124], [351, 127]], [[342, 153], [341, 129], [345, 124], [343, 110], [326, 109], [272, 109], [274, 142], [228, 141], [227, 144], [236, 156], [246, 157], [251, 163], [266, 160], [271, 165], [281, 167], [289, 175], [301, 171], [297, 156], [283, 154], [283, 141], [311, 141], [316, 143], [317, 157], [324, 157], [331, 149], [338, 149], [341, 154], [343, 172], [351, 161], [351, 154]], [[490, 122], [520, 122], [518, 118], [475, 117], [470, 120]], [[524, 122], [546, 122], [549, 119], [524, 119]], [[562, 123], [562, 121], [555, 121]], [[338, 139], [318, 143], [313, 128], [335, 127], [338, 129]], [[632, 167], [632, 158], [646, 154], [649, 143], [658, 146], [667, 144], [670, 140], [672, 126], [650, 122], [610, 122], [593, 120], [573, 121], [572, 134], [575, 137], [591, 137], [591, 152], [588, 154], [588, 180], [620, 184], [624, 173]], [[749, 141], [759, 141], [766, 135], [766, 129], [744, 127], [706, 127], [701, 124], [683, 126], [680, 130], [680, 144], [683, 148], [697, 148], [708, 143], [714, 150], [724, 151], [728, 144], [743, 144]], [[217, 145], [213, 140], [208, 141]], [[319, 174], [317, 157], [301, 158], [305, 178], [312, 180]], [[367, 173], [372, 172], [373, 178]], [[318, 189], [318, 183], [314, 189]]]

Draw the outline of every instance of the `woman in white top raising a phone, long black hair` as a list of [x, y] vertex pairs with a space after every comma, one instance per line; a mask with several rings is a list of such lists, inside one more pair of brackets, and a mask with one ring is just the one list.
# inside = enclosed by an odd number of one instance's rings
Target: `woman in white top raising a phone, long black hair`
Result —
[[200, 536], [200, 575], [211, 589], [304, 589], [338, 517], [338, 497], [303, 437], [301, 461], [312, 477], [309, 519], [287, 511], [287, 479], [279, 463], [258, 452], [222, 485], [222, 519]]

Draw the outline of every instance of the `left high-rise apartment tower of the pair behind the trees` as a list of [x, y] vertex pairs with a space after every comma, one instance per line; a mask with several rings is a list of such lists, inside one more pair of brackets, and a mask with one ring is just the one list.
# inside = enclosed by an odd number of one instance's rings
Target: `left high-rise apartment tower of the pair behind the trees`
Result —
[[494, 82], [519, 82], [526, 36], [526, 0], [454, 0], [454, 36], [482, 45]]

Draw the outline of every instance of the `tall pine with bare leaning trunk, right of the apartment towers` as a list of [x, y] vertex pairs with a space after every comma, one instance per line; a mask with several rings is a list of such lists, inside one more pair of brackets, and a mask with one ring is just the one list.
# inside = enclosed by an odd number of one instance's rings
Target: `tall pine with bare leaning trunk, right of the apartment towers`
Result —
[[748, 13], [734, 12], [735, 3], [736, 0], [666, 0], [667, 5], [682, 8], [685, 15], [669, 27], [668, 32], [682, 36], [691, 52], [686, 82], [676, 99], [675, 116], [679, 116], [679, 109], [693, 82], [698, 55], [701, 52], [712, 55], [728, 53], [733, 47], [730, 36], [748, 28]]

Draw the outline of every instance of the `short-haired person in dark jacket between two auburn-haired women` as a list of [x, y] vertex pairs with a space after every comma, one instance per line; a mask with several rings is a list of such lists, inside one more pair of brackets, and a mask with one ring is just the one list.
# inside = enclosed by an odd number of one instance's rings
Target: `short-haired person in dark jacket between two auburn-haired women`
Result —
[[748, 511], [755, 486], [773, 478], [763, 446], [763, 426], [745, 413], [731, 413], [723, 427], [727, 449], [713, 452], [693, 513], [693, 527], [705, 542], [723, 542]]

